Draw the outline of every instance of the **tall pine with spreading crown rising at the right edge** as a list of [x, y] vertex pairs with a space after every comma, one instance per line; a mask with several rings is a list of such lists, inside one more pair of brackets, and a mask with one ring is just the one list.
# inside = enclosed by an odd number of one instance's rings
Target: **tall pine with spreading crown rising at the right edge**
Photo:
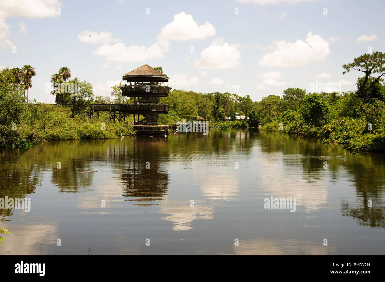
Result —
[[[380, 81], [381, 77], [385, 75], [385, 54], [382, 52], [373, 52], [372, 54], [364, 54], [358, 58], [354, 58], [353, 63], [348, 63], [342, 66], [345, 71], [343, 74], [350, 72], [350, 70], [358, 70], [365, 73], [365, 77], [360, 85], [357, 94], [362, 98], [363, 103], [367, 102], [368, 92]], [[373, 79], [370, 77], [373, 75]], [[370, 83], [368, 83], [370, 81]]]

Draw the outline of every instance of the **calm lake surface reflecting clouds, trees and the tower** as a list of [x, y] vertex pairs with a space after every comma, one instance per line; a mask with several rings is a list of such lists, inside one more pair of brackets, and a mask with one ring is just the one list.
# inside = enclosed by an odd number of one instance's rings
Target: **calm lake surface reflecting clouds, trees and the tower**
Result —
[[[0, 157], [0, 198], [30, 198], [0, 209], [0, 255], [385, 254], [383, 154], [251, 128]], [[271, 196], [295, 212], [265, 209]]]

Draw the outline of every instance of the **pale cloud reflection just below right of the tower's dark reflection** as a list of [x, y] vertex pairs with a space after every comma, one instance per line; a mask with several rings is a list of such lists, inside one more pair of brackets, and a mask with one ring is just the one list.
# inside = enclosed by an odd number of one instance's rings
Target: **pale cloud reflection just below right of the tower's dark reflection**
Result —
[[176, 231], [192, 229], [191, 222], [194, 219], [213, 219], [214, 209], [207, 206], [199, 205], [199, 202], [194, 203], [194, 207], [190, 207], [190, 203], [173, 204], [170, 201], [165, 201], [161, 205], [160, 212], [169, 214], [163, 217], [164, 220], [172, 221], [172, 229]]

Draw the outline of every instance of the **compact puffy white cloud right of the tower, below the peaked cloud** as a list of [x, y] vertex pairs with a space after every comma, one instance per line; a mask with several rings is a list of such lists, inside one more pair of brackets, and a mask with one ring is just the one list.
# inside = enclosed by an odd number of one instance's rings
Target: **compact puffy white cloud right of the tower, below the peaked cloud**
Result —
[[194, 66], [198, 68], [225, 69], [236, 68], [241, 65], [241, 52], [234, 44], [218, 44], [218, 38], [201, 52], [200, 60], [194, 60]]

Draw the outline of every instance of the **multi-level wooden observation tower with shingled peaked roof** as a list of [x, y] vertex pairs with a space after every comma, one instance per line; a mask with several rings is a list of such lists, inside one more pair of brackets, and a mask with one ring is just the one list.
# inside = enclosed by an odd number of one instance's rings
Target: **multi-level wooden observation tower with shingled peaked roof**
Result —
[[[123, 80], [127, 80], [130, 84], [119, 88], [122, 95], [134, 97], [134, 103], [126, 105], [126, 112], [134, 114], [134, 128], [138, 133], [168, 132], [167, 125], [157, 125], [158, 115], [167, 114], [169, 110], [169, 105], [158, 103], [159, 97], [167, 97], [171, 89], [159, 85], [168, 82], [168, 79], [166, 75], [149, 65], [142, 65], [123, 75]], [[141, 120], [140, 115], [144, 116]]]

